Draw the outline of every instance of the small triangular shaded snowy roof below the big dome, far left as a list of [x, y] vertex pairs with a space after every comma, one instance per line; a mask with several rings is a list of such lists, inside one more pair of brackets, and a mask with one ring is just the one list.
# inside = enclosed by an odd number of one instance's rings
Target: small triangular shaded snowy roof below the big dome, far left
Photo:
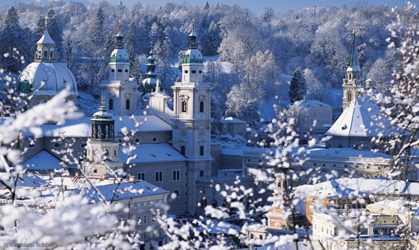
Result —
[[60, 159], [57, 159], [57, 157], [49, 153], [47, 150], [41, 150], [36, 155], [23, 162], [22, 166], [27, 170], [51, 171], [62, 168], [60, 162]]

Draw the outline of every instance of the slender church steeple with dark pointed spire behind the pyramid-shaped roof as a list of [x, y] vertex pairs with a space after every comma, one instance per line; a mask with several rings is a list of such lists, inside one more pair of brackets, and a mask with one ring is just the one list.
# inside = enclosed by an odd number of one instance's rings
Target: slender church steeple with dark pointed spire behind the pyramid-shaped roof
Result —
[[361, 66], [359, 65], [358, 50], [356, 47], [356, 32], [354, 30], [352, 48], [350, 52], [348, 68], [346, 68], [345, 79], [343, 79], [342, 107], [345, 110], [352, 99], [359, 95], [358, 89], [364, 86]]

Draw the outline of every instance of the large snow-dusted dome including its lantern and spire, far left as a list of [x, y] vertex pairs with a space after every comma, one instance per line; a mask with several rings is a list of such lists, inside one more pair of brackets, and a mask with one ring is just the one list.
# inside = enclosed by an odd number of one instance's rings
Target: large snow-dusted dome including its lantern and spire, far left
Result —
[[70, 100], [76, 99], [78, 95], [73, 73], [65, 65], [57, 62], [54, 45], [45, 20], [44, 34], [36, 43], [35, 60], [23, 69], [16, 85], [17, 92], [32, 93], [34, 102], [49, 100], [67, 86], [70, 87]]

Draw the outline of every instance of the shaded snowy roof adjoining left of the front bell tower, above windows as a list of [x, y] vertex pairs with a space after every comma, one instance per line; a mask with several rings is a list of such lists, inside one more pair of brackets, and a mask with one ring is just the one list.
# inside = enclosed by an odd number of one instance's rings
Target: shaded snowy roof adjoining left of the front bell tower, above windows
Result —
[[[132, 159], [131, 163], [186, 161], [186, 157], [169, 144], [139, 144], [135, 147], [133, 155], [137, 155], [137, 157]], [[124, 154], [121, 147], [120, 161], [126, 162], [126, 159], [128, 159], [128, 155]]]

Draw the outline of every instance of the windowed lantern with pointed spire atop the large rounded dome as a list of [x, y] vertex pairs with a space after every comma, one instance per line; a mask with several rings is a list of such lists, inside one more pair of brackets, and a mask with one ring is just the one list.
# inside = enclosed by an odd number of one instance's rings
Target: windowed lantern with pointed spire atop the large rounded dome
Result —
[[45, 16], [44, 34], [36, 43], [35, 62], [56, 62], [55, 42], [48, 33], [48, 16]]

